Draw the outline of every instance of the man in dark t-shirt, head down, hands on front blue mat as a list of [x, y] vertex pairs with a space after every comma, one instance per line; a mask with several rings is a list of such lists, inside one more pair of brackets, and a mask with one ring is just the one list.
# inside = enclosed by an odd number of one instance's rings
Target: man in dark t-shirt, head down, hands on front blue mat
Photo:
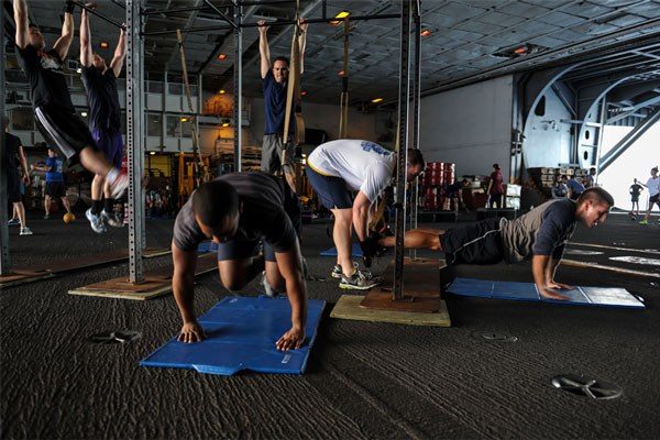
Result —
[[265, 173], [227, 174], [193, 193], [176, 217], [172, 240], [172, 288], [184, 321], [179, 341], [205, 338], [195, 318], [193, 284], [197, 246], [211, 239], [218, 243], [218, 271], [227, 289], [242, 289], [265, 267], [267, 284], [287, 293], [292, 328], [275, 344], [278, 350], [300, 348], [307, 305], [299, 224], [296, 195], [282, 178]]

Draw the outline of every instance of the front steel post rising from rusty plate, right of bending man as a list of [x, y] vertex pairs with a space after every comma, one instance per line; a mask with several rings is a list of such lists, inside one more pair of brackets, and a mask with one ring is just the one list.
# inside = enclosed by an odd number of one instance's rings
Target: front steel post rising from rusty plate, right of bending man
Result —
[[396, 248], [394, 264], [393, 299], [404, 296], [404, 233], [406, 231], [406, 172], [408, 153], [408, 110], [410, 107], [410, 3], [402, 1], [402, 34], [398, 96], [398, 134], [396, 164]]

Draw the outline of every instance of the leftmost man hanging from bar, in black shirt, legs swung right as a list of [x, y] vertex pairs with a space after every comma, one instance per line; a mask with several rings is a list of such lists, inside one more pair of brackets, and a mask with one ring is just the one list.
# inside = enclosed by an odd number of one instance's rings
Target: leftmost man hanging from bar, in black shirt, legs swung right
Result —
[[69, 164], [79, 161], [87, 170], [106, 178], [112, 197], [121, 197], [129, 185], [128, 174], [112, 166], [98, 151], [87, 124], [76, 114], [62, 69], [74, 40], [75, 3], [66, 2], [62, 36], [51, 51], [45, 51], [38, 28], [28, 21], [26, 1], [14, 0], [13, 8], [16, 57], [30, 82], [38, 130], [57, 145]]

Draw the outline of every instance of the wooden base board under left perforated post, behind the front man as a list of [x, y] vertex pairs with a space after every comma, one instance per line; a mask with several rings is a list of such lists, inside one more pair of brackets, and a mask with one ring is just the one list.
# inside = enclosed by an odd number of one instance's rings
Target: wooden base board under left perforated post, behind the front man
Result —
[[[216, 254], [205, 254], [197, 258], [195, 276], [218, 268]], [[69, 295], [96, 296], [116, 299], [145, 300], [167, 295], [172, 292], [172, 264], [144, 274], [144, 283], [132, 284], [125, 277], [118, 277], [68, 292]]]

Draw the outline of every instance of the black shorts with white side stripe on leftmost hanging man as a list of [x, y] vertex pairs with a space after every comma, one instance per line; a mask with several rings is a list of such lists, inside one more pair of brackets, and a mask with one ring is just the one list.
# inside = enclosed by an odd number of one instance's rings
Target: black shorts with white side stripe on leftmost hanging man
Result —
[[68, 164], [78, 162], [78, 154], [86, 147], [97, 150], [87, 124], [76, 113], [58, 106], [46, 105], [34, 109], [36, 127], [44, 139], [57, 145]]

